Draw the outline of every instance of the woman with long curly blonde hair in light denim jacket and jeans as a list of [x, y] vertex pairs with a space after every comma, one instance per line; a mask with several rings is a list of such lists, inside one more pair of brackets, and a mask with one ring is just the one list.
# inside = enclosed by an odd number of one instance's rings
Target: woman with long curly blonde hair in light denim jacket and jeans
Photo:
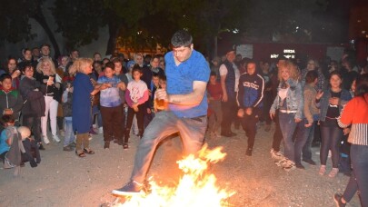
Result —
[[[293, 133], [297, 124], [302, 122], [303, 118], [303, 91], [302, 84], [299, 81], [299, 73], [295, 64], [286, 61], [279, 65], [278, 94], [271, 106], [270, 115], [274, 118], [276, 109], [279, 109], [279, 123], [283, 134], [285, 159], [277, 165], [282, 166], [285, 171], [295, 169], [295, 147], [305, 143], [303, 134], [299, 133], [293, 141]], [[303, 127], [298, 127], [302, 129]], [[303, 143], [303, 144], [302, 144]]]

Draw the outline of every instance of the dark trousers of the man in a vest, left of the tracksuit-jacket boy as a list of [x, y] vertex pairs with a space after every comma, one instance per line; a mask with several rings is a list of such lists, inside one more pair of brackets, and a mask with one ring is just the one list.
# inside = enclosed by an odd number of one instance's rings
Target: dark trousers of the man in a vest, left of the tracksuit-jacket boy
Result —
[[235, 104], [235, 99], [229, 98], [227, 102], [223, 102], [221, 105], [223, 110], [223, 122], [221, 123], [221, 133], [230, 133], [231, 125], [234, 122], [234, 116], [236, 109], [238, 108]]

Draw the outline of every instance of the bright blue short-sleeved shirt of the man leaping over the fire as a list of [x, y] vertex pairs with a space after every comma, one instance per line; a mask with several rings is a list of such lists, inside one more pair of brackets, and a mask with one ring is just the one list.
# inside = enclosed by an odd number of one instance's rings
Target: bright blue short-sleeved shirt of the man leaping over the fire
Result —
[[[176, 65], [173, 52], [164, 55], [165, 74], [167, 76], [167, 94], [193, 93], [193, 82], [207, 83], [210, 78], [210, 67], [204, 55], [193, 51], [188, 60]], [[169, 104], [169, 109], [178, 117], [193, 118], [207, 114], [207, 95], [204, 94], [201, 104], [180, 105]]]

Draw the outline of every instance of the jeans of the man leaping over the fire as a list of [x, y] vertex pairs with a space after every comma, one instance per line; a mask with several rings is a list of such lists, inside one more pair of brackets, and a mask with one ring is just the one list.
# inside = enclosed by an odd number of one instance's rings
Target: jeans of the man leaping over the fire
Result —
[[184, 153], [197, 153], [203, 145], [207, 117], [178, 118], [172, 112], [156, 113], [154, 120], [144, 130], [144, 136], [135, 153], [131, 179], [144, 182], [158, 143], [173, 133], [180, 133]]

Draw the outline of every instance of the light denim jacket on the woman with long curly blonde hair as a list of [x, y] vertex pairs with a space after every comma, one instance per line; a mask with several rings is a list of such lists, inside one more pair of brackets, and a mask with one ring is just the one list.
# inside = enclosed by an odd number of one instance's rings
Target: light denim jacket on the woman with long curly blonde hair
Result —
[[[287, 80], [290, 88], [286, 95], [286, 107], [288, 111], [296, 111], [295, 119], [303, 119], [303, 91], [302, 84], [299, 81], [292, 79]], [[277, 91], [280, 91], [280, 86]], [[275, 113], [276, 109], [280, 108], [280, 97], [277, 95], [274, 99], [274, 104], [271, 106], [270, 113]]]

